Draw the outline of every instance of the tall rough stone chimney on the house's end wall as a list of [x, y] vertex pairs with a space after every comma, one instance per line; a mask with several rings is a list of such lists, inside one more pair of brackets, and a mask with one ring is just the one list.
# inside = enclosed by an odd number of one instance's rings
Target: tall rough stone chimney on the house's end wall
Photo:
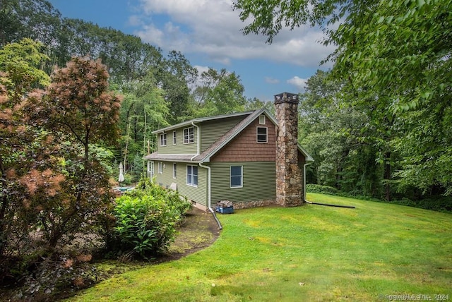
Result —
[[298, 95], [275, 95], [276, 203], [283, 207], [302, 205], [302, 171], [298, 164]]

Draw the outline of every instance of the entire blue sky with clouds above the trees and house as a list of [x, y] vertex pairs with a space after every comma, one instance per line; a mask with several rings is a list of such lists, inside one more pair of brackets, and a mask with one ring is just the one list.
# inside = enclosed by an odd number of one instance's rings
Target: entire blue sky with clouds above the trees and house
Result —
[[163, 54], [182, 52], [199, 71], [234, 71], [246, 97], [272, 100], [280, 92], [302, 92], [322, 59], [319, 29], [282, 30], [266, 44], [258, 35], [242, 35], [246, 23], [232, 11], [232, 0], [49, 0], [63, 17], [78, 18], [141, 37]]

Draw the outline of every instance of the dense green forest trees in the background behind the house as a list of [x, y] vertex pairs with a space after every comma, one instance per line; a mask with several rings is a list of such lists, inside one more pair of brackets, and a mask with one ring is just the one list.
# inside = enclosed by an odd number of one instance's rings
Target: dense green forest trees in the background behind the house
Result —
[[[451, 18], [450, 13], [443, 17]], [[117, 145], [97, 147], [111, 164], [112, 176], [124, 162], [126, 183], [143, 174], [142, 157], [155, 150], [151, 131], [157, 128], [198, 116], [261, 107], [273, 110], [271, 102], [246, 99], [234, 72], [210, 68], [200, 73], [181, 52], [165, 54], [139, 37], [64, 18], [45, 0], [0, 0], [0, 47], [25, 37], [42, 43], [41, 52], [49, 59], [40, 68], [48, 75], [73, 56], [100, 59], [107, 66], [110, 89], [124, 96], [119, 110], [121, 135]], [[451, 73], [450, 26], [444, 44], [438, 52], [444, 52], [446, 67], [430, 62], [432, 77], [442, 73], [447, 78]], [[395, 56], [391, 49], [389, 55]], [[336, 66], [343, 64], [345, 70], [350, 61], [345, 63], [337, 61]], [[371, 71], [369, 66], [362, 68]], [[403, 97], [410, 97], [410, 89], [416, 87], [384, 94], [369, 85], [350, 85], [347, 76], [318, 71], [300, 95], [299, 142], [315, 159], [308, 182], [386, 200], [451, 195], [450, 81], [438, 86], [440, 91], [426, 91], [423, 99], [406, 102]], [[398, 88], [394, 82], [387, 87]], [[402, 105], [397, 98], [404, 100]]]

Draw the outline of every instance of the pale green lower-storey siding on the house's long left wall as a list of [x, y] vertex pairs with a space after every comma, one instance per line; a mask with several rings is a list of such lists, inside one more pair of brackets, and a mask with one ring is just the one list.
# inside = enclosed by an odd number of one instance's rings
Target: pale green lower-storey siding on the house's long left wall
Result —
[[[173, 179], [172, 168], [173, 164], [177, 164], [177, 177]], [[198, 167], [198, 187], [189, 186], [186, 184], [186, 166], [185, 162], [163, 162], [163, 173], [155, 173], [155, 182], [164, 188], [169, 188], [171, 183], [177, 183], [177, 191], [181, 195], [186, 196], [201, 205], [207, 206], [207, 169]], [[196, 165], [196, 164], [192, 164]], [[158, 161], [155, 161], [155, 167], [158, 166]], [[157, 171], [157, 170], [155, 170]]]

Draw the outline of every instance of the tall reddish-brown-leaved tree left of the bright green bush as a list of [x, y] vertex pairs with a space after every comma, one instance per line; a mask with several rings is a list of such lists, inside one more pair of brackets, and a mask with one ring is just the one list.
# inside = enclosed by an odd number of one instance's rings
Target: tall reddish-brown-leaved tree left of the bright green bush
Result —
[[28, 116], [52, 133], [64, 176], [57, 198], [32, 205], [40, 209], [47, 250], [93, 231], [112, 201], [107, 171], [90, 153], [90, 145], [113, 144], [118, 138], [121, 97], [109, 92], [107, 79], [107, 68], [99, 60], [74, 57], [54, 71], [42, 97], [29, 98]]

